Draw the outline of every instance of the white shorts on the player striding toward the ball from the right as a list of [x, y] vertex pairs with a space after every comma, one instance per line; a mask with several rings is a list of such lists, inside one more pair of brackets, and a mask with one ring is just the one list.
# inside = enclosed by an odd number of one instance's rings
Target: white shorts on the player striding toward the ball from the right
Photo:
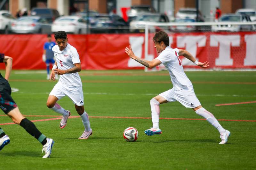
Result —
[[159, 96], [162, 96], [168, 102], [178, 101], [183, 106], [188, 108], [195, 108], [201, 105], [201, 103], [196, 97], [193, 85], [190, 85], [181, 90], [174, 90], [172, 88], [170, 90], [160, 93]]

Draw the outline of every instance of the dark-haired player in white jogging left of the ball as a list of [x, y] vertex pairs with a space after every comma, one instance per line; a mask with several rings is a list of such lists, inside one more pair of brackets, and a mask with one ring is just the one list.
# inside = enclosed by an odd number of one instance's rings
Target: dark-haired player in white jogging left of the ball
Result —
[[79, 55], [76, 48], [67, 43], [68, 38], [65, 31], [56, 32], [54, 38], [57, 45], [52, 48], [52, 51], [56, 61], [52, 67], [50, 81], [55, 80], [55, 74], [60, 75], [60, 79], [50, 92], [46, 105], [63, 115], [60, 121], [60, 128], [63, 129], [71, 114], [69, 110], [65, 110], [56, 102], [64, 96], [68, 96], [75, 104], [76, 111], [84, 124], [84, 132], [78, 139], [87, 139], [92, 135], [92, 129], [88, 114], [84, 111], [84, 94], [81, 78], [78, 74], [81, 71]]

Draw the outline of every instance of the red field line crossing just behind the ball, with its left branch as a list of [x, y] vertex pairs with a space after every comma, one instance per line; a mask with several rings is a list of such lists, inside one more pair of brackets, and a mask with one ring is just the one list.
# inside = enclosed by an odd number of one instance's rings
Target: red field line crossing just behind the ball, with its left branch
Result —
[[[7, 116], [7, 115], [0, 115], [0, 116]], [[51, 121], [51, 120], [58, 120], [61, 119], [61, 116], [52, 116], [52, 115], [24, 115], [26, 117], [57, 117], [51, 119], [39, 119], [39, 120], [32, 120], [31, 122], [42, 122], [42, 121]], [[70, 116], [69, 118], [79, 118], [80, 116]], [[115, 116], [89, 116], [89, 118], [111, 118], [111, 119], [151, 119], [151, 117], [115, 117]], [[205, 119], [190, 119], [190, 118], [159, 118], [159, 119], [166, 119], [166, 120], [205, 120]], [[219, 119], [219, 121], [236, 121], [236, 122], [256, 122], [256, 120], [229, 120], [229, 119]], [[0, 125], [9, 125], [15, 123], [0, 123]]]

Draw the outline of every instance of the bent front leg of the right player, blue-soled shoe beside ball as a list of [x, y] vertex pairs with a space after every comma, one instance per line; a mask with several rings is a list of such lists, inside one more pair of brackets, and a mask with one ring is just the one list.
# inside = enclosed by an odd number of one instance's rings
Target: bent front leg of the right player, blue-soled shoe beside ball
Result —
[[172, 99], [172, 89], [167, 90], [153, 99], [150, 100], [151, 107], [151, 118], [153, 127], [144, 131], [144, 133], [148, 136], [159, 135], [162, 133], [162, 130], [159, 129], [159, 116], [160, 116], [160, 104], [167, 103], [168, 101], [175, 101]]

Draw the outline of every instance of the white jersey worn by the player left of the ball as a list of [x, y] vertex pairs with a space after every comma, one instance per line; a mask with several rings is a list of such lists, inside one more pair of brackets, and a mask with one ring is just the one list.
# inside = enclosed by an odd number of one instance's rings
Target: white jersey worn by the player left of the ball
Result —
[[[76, 48], [70, 44], [67, 44], [67, 47], [62, 51], [60, 51], [58, 45], [55, 45], [52, 47], [52, 51], [60, 70], [71, 69], [75, 63], [81, 63]], [[67, 87], [82, 86], [81, 78], [77, 72], [60, 75], [59, 81]]]

